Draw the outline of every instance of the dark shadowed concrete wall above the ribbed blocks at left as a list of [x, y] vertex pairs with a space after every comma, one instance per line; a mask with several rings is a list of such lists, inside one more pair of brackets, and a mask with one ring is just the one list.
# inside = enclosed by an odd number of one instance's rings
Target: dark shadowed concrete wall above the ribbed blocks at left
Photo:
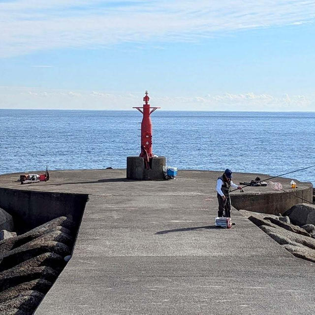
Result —
[[0, 188], [0, 208], [13, 217], [20, 233], [61, 216], [72, 216], [79, 226], [87, 200], [87, 194]]

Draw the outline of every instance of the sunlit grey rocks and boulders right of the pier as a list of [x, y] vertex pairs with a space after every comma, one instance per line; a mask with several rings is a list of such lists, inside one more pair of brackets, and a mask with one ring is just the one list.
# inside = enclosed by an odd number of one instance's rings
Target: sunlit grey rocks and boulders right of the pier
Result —
[[240, 212], [288, 252], [315, 262], [315, 205], [297, 204], [284, 216]]

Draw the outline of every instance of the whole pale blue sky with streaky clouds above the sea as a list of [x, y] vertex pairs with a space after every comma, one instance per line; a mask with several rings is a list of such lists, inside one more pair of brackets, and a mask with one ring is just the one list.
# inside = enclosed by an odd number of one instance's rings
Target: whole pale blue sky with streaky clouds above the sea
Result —
[[315, 1], [0, 1], [0, 108], [315, 111]]

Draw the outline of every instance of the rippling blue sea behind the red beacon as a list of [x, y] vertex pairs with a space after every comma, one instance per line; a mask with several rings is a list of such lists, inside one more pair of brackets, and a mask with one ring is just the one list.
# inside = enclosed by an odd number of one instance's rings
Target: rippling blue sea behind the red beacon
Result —
[[[0, 110], [0, 174], [126, 168], [140, 153], [142, 115], [130, 111]], [[152, 114], [153, 152], [179, 169], [278, 175], [315, 164], [315, 113]], [[315, 168], [293, 178], [315, 184]]]

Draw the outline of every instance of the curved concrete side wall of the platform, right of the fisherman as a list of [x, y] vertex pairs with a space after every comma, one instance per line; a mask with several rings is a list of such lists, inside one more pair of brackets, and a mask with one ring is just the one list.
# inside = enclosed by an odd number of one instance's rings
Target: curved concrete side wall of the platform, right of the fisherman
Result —
[[[312, 201], [313, 186], [310, 184], [304, 189], [294, 189], [294, 194]], [[298, 203], [305, 203], [305, 201], [284, 191], [278, 191], [274, 193], [259, 194], [231, 194], [231, 203], [237, 210], [243, 209], [278, 215], [279, 213], [283, 214], [286, 210]]]

